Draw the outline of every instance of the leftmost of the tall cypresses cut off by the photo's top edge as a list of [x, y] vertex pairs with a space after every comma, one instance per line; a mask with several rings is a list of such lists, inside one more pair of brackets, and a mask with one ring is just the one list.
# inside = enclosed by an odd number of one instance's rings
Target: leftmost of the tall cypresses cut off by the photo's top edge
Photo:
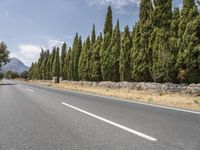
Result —
[[135, 37], [132, 77], [134, 81], [151, 81], [151, 51], [149, 49], [149, 38], [152, 33], [153, 4], [151, 0], [142, 0], [140, 3], [140, 20], [138, 23], [137, 37]]

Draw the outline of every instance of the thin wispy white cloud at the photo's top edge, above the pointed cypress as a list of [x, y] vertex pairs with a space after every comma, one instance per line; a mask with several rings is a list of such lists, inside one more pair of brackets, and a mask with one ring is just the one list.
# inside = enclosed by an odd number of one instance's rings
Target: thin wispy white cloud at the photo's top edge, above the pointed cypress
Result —
[[116, 9], [122, 9], [131, 4], [140, 4], [140, 0], [86, 0], [89, 6], [108, 5], [111, 4]]

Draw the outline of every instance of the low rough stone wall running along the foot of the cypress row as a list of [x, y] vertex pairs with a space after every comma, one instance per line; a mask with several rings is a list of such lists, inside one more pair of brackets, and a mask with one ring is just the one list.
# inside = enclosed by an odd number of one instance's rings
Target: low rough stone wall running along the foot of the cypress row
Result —
[[112, 89], [149, 90], [161, 93], [184, 93], [200, 96], [200, 84], [173, 84], [173, 83], [148, 83], [148, 82], [88, 82], [88, 81], [62, 81], [81, 86], [104, 87]]

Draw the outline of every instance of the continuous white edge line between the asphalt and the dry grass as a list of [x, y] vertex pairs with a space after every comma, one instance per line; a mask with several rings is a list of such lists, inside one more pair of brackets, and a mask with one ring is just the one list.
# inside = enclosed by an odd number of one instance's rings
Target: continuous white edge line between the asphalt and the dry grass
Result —
[[114, 97], [109, 97], [109, 96], [102, 96], [102, 95], [98, 95], [98, 94], [77, 92], [77, 91], [73, 91], [73, 90], [65, 90], [65, 91], [74, 92], [74, 93], [78, 93], [78, 94], [91, 95], [91, 96], [96, 96], [96, 97], [103, 97], [103, 98], [107, 98], [107, 99], [123, 101], [123, 102], [128, 102], [128, 103], [133, 103], [133, 104], [141, 104], [141, 105], [147, 105], [147, 106], [152, 106], [152, 107], [157, 107], [157, 108], [164, 108], [164, 109], [170, 109], [170, 110], [176, 110], [176, 111], [181, 111], [181, 112], [187, 112], [187, 113], [193, 113], [193, 114], [200, 115], [200, 112], [198, 112], [198, 111], [186, 110], [186, 109], [181, 109], [181, 108], [173, 108], [173, 107], [169, 107], [169, 106], [161, 106], [161, 105], [156, 105], [156, 104], [148, 104], [148, 103], [145, 103], [145, 102], [137, 102], [137, 101], [125, 100], [125, 99], [114, 98]]

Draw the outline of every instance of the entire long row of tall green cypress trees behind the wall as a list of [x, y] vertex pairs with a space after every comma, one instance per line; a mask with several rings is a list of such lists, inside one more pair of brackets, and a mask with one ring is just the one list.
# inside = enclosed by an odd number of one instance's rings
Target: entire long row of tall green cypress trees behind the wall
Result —
[[128, 26], [120, 32], [119, 21], [113, 30], [109, 6], [103, 36], [96, 39], [93, 25], [83, 46], [77, 33], [72, 48], [66, 47], [64, 43], [60, 58], [56, 47], [51, 54], [42, 50], [29, 78], [200, 82], [200, 15], [195, 0], [183, 0], [182, 10], [172, 9], [172, 0], [141, 0], [139, 20], [131, 32]]

